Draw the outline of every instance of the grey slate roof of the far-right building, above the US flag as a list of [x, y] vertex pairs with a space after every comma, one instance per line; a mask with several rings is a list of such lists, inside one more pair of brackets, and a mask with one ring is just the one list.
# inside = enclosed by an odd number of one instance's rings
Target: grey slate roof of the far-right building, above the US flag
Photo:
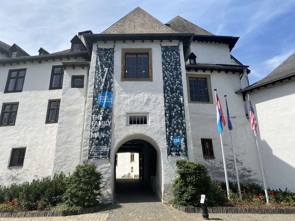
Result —
[[274, 84], [276, 82], [282, 82], [285, 79], [291, 80], [291, 77], [295, 77], [295, 52], [284, 60], [278, 67], [270, 72], [266, 77], [250, 85], [247, 88], [238, 90], [236, 93], [242, 93], [258, 89], [260, 87], [266, 87], [266, 85]]

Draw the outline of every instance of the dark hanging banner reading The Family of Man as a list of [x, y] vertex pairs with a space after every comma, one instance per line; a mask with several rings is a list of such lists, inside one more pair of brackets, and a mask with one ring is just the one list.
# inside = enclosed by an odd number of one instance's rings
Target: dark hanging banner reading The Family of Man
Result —
[[97, 48], [88, 159], [109, 159], [112, 134], [114, 48]]

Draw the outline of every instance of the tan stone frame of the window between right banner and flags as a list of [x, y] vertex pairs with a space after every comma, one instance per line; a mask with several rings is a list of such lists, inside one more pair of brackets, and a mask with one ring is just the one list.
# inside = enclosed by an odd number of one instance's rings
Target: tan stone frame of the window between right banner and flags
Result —
[[[190, 96], [191, 94], [190, 94], [190, 90], [189, 90], [189, 77], [206, 78], [208, 101], [195, 101], [195, 100], [191, 100], [191, 96]], [[207, 75], [207, 74], [186, 73], [186, 86], [187, 86], [187, 95], [188, 95], [188, 102], [189, 103], [213, 104], [213, 94], [212, 94], [211, 77], [210, 77], [210, 75]]]

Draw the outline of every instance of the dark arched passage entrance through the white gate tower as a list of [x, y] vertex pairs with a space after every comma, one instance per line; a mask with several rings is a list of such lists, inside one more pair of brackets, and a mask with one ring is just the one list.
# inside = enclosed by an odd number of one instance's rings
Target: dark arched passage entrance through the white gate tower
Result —
[[[120, 153], [138, 153], [138, 171], [133, 171], [134, 174], [138, 172], [138, 177], [135, 179], [144, 182], [145, 185], [141, 185], [141, 187], [147, 186], [153, 189], [153, 192], [157, 195], [159, 199], [162, 197], [162, 168], [161, 168], [161, 153], [160, 149], [157, 145], [152, 145], [150, 142], [144, 139], [130, 139], [123, 144], [117, 147], [117, 152], [114, 156], [114, 189], [116, 189], [116, 166], [117, 162], [124, 162], [124, 165], [127, 169], [126, 174], [130, 171], [130, 162], [132, 162], [132, 154], [127, 154], [127, 159], [124, 161], [119, 161], [118, 156]], [[118, 155], [117, 155], [118, 154]], [[122, 155], [122, 154], [121, 154]], [[125, 155], [126, 156], [126, 155]], [[130, 156], [130, 158], [128, 158]], [[133, 168], [132, 168], [133, 169]], [[123, 177], [125, 178], [125, 177]], [[127, 177], [126, 177], [127, 178]], [[134, 178], [134, 177], [133, 177]], [[128, 187], [132, 188], [132, 186]]]

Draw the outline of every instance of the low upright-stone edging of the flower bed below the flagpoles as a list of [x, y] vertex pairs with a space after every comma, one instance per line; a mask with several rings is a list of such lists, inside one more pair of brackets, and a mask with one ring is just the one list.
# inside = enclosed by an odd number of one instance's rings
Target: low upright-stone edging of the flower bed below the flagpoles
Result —
[[[165, 203], [185, 213], [202, 213], [201, 207], [182, 207]], [[295, 214], [294, 208], [241, 208], [241, 207], [208, 207], [208, 213], [252, 213], [252, 214]]]

